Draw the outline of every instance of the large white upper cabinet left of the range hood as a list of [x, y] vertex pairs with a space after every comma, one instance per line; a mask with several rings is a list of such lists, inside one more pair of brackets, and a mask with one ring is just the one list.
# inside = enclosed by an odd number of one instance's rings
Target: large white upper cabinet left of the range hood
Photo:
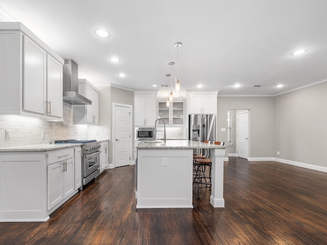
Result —
[[0, 22], [0, 114], [62, 120], [64, 60], [19, 22]]

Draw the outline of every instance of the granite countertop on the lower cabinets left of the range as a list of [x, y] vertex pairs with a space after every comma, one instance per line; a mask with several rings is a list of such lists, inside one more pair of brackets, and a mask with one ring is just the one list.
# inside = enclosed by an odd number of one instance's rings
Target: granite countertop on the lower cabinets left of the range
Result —
[[13, 146], [7, 148], [0, 148], [0, 152], [46, 152], [52, 150], [58, 150], [63, 148], [80, 146], [81, 143], [77, 144], [32, 144], [32, 145], [22, 145]]

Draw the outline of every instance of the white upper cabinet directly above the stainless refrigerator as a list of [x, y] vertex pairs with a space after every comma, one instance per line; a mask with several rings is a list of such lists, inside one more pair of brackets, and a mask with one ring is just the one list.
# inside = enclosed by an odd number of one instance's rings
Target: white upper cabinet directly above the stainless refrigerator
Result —
[[218, 91], [188, 94], [188, 114], [217, 114]]

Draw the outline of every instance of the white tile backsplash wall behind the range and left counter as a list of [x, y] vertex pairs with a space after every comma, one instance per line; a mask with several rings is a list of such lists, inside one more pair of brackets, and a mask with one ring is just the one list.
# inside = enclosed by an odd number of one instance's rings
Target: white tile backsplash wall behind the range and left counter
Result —
[[[73, 125], [73, 106], [63, 102], [64, 121], [45, 121], [44, 119], [20, 116], [0, 115], [0, 148], [50, 143], [61, 139], [108, 139], [107, 126]], [[5, 131], [11, 130], [6, 138]], [[45, 138], [42, 139], [42, 131]]]

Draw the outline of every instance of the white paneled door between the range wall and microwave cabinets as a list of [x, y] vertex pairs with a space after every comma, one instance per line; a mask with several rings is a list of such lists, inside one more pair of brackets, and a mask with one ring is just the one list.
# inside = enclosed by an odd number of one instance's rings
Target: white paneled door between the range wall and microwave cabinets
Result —
[[130, 165], [131, 161], [131, 109], [114, 106], [114, 166]]

